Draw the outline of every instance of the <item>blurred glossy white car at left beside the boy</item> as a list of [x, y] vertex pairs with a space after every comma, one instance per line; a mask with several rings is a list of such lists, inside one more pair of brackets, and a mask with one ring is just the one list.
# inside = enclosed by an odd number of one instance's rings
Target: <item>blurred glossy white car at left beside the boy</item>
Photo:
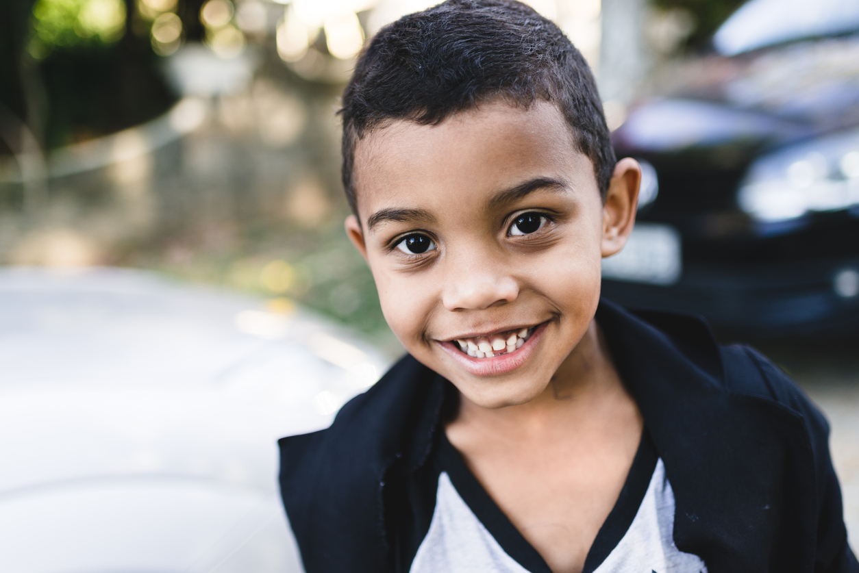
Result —
[[330, 424], [386, 360], [283, 308], [0, 269], [0, 571], [301, 571], [277, 438]]

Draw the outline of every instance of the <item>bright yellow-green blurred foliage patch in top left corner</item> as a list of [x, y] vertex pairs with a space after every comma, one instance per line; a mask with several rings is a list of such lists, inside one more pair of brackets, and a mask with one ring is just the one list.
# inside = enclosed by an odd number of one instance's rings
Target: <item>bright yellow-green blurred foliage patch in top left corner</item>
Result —
[[123, 0], [38, 0], [33, 8], [34, 58], [54, 48], [110, 45], [125, 32]]

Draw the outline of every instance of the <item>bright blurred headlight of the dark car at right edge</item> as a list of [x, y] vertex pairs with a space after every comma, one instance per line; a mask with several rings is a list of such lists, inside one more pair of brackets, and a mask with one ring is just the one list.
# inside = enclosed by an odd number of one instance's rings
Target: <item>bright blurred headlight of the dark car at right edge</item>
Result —
[[763, 155], [740, 184], [737, 203], [762, 222], [859, 205], [859, 131]]

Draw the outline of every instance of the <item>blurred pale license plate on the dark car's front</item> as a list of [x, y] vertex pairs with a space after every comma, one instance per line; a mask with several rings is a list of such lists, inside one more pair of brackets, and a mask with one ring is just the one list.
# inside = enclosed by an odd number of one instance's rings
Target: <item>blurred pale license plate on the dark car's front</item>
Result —
[[632, 229], [620, 253], [602, 260], [602, 276], [632, 283], [673, 284], [682, 265], [677, 230], [643, 222]]

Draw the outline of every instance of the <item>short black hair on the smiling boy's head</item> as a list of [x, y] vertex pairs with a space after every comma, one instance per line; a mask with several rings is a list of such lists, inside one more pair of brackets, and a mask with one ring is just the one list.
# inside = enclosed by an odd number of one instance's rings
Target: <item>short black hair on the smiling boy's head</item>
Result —
[[551, 21], [515, 0], [448, 0], [382, 27], [364, 48], [343, 94], [343, 185], [353, 213], [355, 148], [398, 119], [437, 125], [503, 99], [551, 101], [578, 150], [594, 163], [606, 198], [616, 162], [594, 76]]

